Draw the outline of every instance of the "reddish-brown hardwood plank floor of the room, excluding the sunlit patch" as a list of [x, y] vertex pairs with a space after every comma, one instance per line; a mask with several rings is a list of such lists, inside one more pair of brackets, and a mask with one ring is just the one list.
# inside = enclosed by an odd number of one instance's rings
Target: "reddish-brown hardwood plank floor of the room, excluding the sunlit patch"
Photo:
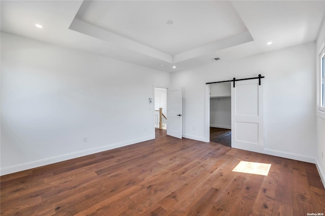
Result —
[[[271, 164], [267, 176], [232, 171]], [[325, 213], [314, 164], [156, 130], [156, 139], [1, 177], [1, 215]]]

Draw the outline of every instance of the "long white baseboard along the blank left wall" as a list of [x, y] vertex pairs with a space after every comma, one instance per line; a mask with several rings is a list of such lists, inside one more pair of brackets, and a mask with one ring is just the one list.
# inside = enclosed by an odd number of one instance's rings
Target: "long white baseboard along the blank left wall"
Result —
[[79, 157], [86, 156], [86, 155], [104, 152], [107, 150], [132, 145], [132, 144], [135, 144], [138, 142], [143, 142], [143, 141], [150, 140], [150, 139], [154, 139], [154, 136], [153, 135], [145, 136], [145, 137], [141, 137], [139, 139], [127, 140], [127, 141], [123, 141], [123, 142], [113, 143], [113, 144], [107, 145], [107, 146], [87, 149], [87, 150], [73, 152], [73, 153], [64, 154], [64, 155], [58, 155], [55, 157], [50, 157], [50, 158], [31, 161], [31, 162], [27, 162], [27, 163], [17, 164], [14, 166], [8, 166], [8, 167], [4, 167], [4, 168], [0, 169], [0, 175], [7, 175], [7, 174], [14, 173], [14, 172], [19, 172], [19, 171], [23, 171], [23, 170], [27, 170], [27, 169], [32, 169], [32, 168], [36, 168], [36, 167], [40, 167], [40, 166], [49, 165], [52, 163], [66, 161], [66, 160], [70, 160], [70, 159], [74, 159], [74, 158], [79, 158]]

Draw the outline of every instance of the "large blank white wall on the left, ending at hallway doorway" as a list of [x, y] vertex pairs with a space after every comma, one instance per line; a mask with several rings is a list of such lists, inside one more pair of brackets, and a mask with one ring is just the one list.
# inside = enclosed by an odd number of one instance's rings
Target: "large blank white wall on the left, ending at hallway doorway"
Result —
[[2, 175], [154, 138], [148, 98], [170, 82], [169, 73], [4, 32], [1, 73]]

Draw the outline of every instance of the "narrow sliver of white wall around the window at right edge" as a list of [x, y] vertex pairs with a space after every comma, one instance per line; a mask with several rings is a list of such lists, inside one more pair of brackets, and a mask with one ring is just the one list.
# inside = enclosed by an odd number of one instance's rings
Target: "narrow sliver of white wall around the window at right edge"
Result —
[[[319, 35], [316, 42], [316, 56], [318, 57], [318, 51], [322, 47], [322, 45], [325, 43], [325, 20], [321, 26], [321, 29], [319, 31]], [[319, 75], [319, 64], [316, 61], [317, 64], [317, 76]], [[319, 79], [316, 80], [316, 82], [319, 82]], [[315, 82], [314, 86], [317, 86]], [[316, 89], [318, 91], [318, 88]], [[318, 102], [318, 101], [317, 101]], [[316, 103], [317, 104], [317, 103]], [[317, 105], [318, 107], [318, 105]], [[325, 114], [320, 113], [318, 109], [316, 110], [317, 114], [317, 148], [316, 148], [316, 159], [317, 159], [317, 168], [319, 173], [322, 177], [322, 182], [325, 187]], [[323, 153], [323, 156], [322, 156]]]

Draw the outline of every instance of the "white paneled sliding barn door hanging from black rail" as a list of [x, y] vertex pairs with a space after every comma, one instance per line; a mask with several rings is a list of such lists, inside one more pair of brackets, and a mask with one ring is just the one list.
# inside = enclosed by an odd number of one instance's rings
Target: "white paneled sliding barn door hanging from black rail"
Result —
[[[233, 85], [233, 83], [232, 83]], [[263, 80], [236, 81], [232, 86], [232, 147], [262, 153], [264, 149]]]

